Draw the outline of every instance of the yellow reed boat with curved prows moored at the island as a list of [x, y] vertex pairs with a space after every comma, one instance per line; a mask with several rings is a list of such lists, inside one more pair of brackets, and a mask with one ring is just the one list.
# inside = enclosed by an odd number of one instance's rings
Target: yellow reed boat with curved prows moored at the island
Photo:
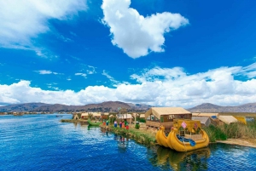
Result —
[[[169, 147], [175, 151], [193, 151], [209, 145], [209, 137], [201, 129], [200, 121], [177, 120], [174, 123], [174, 127], [172, 127], [168, 136], [165, 134], [165, 127], [160, 126], [159, 131], [155, 135], [159, 145]], [[181, 130], [184, 134], [181, 134]]]

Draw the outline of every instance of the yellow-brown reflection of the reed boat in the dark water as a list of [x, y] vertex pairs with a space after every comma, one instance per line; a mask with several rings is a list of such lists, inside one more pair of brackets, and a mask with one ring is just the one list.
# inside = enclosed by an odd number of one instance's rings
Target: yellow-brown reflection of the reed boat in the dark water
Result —
[[208, 147], [187, 152], [172, 151], [162, 146], [148, 149], [149, 162], [165, 170], [207, 170], [210, 155]]

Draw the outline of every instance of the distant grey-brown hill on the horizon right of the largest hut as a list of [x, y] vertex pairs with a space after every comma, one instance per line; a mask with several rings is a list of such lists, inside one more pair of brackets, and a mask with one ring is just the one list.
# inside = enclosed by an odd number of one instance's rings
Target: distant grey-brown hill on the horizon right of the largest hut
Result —
[[188, 109], [190, 112], [256, 112], [256, 103], [248, 103], [236, 106], [221, 106], [211, 103], [203, 103]]

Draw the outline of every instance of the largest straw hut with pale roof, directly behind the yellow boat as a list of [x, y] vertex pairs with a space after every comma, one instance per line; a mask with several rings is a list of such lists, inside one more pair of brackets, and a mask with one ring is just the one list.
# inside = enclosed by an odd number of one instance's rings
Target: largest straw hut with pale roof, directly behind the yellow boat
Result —
[[173, 119], [191, 119], [192, 113], [182, 107], [151, 107], [146, 113], [146, 125], [149, 127], [165, 126], [171, 129]]

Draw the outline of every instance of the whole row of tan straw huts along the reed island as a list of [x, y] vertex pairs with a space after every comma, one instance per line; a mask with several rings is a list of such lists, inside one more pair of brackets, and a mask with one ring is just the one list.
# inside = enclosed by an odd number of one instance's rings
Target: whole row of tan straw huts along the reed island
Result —
[[[109, 115], [109, 113], [102, 112], [84, 112], [81, 114], [81, 119], [88, 119], [89, 117], [102, 120], [114, 117], [116, 120], [127, 120], [129, 123], [134, 122], [136, 118], [144, 119], [146, 126], [159, 128], [164, 125], [166, 129], [172, 128], [174, 119], [191, 119], [201, 122], [201, 126], [208, 127], [210, 124], [230, 124], [230, 123], [247, 123], [245, 117], [222, 116], [218, 113], [192, 113], [183, 109], [182, 107], [151, 107], [145, 114], [127, 113], [125, 111], [119, 114]], [[79, 119], [75, 116], [74, 119]]]

